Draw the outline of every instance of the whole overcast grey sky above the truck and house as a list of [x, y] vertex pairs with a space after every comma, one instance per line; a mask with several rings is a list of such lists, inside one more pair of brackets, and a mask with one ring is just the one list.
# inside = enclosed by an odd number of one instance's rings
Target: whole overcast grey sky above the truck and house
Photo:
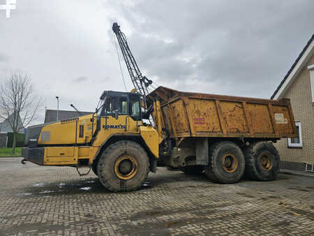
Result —
[[103, 90], [125, 91], [118, 22], [156, 84], [269, 98], [314, 33], [313, 10], [313, 0], [17, 0], [10, 18], [0, 10], [0, 84], [27, 73], [47, 109], [59, 96], [62, 110], [93, 111]]

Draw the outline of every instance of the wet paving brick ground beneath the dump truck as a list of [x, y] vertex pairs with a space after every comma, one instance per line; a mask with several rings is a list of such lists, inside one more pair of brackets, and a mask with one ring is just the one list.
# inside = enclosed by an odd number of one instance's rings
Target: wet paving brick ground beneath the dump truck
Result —
[[158, 168], [139, 191], [0, 158], [0, 235], [313, 235], [314, 178], [214, 184]]

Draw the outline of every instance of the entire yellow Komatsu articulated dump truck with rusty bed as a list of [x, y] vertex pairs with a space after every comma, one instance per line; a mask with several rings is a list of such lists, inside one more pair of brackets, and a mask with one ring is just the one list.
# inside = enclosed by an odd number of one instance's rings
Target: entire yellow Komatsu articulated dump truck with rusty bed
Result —
[[[289, 100], [195, 94], [158, 87], [137, 93], [104, 91], [92, 115], [28, 128], [25, 161], [91, 168], [110, 191], [140, 188], [158, 158], [187, 174], [202, 171], [234, 183], [244, 172], [276, 179], [280, 157], [272, 142], [297, 133]], [[154, 124], [143, 122], [152, 115]]]

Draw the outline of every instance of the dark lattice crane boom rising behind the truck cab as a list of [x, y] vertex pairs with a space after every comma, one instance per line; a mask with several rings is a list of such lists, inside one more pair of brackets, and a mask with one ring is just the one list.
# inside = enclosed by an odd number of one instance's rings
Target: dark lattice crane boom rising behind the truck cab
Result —
[[128, 73], [130, 74], [130, 78], [137, 93], [142, 94], [142, 96], [146, 97], [147, 94], [149, 94], [148, 87], [152, 83], [152, 81], [147, 79], [146, 76], [142, 75], [140, 69], [137, 66], [135, 58], [130, 51], [130, 47], [128, 47], [128, 41], [126, 40], [126, 36], [124, 35], [124, 33], [121, 32], [120, 26], [117, 22], [112, 24], [112, 30], [117, 36], [121, 52], [124, 55], [126, 67], [128, 68]]

